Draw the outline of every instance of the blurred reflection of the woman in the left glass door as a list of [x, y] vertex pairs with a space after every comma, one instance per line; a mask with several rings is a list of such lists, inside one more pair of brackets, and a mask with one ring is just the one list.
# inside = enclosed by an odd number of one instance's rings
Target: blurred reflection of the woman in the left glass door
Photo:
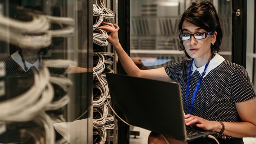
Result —
[[[17, 16], [16, 18], [23, 21], [24, 19], [26, 20], [24, 14], [22, 16]], [[3, 69], [3, 71], [5, 70], [5, 75], [2, 75], [0, 80], [5, 82], [5, 87], [8, 87], [9, 85], [7, 83], [9, 77], [33, 76], [34, 73], [39, 72], [43, 60], [51, 59], [45, 57], [50, 48], [50, 46], [48, 46], [51, 42], [49, 33], [18, 32], [17, 42], [19, 50], [1, 60], [5, 66], [5, 69]], [[62, 68], [48, 67], [50, 74], [87, 72], [86, 68], [76, 67], [65, 63], [61, 65], [63, 65]], [[5, 99], [6, 95], [0, 96], [0, 101]]]

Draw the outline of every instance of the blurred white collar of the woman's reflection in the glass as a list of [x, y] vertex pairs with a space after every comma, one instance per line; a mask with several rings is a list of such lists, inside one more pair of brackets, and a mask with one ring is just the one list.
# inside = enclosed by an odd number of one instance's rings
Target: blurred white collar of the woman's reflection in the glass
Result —
[[[11, 57], [12, 57], [12, 59], [13, 59], [17, 64], [19, 64], [19, 66], [21, 66], [22, 69], [26, 72], [25, 66], [24, 66], [24, 64], [23, 64], [23, 62], [22, 62], [22, 59], [21, 59], [21, 55], [19, 55], [19, 51], [20, 51], [20, 50], [17, 50], [15, 53], [13, 53], [13, 54], [11, 55]], [[40, 55], [40, 58], [41, 58], [41, 55]], [[29, 63], [29, 62], [27, 62], [26, 60], [25, 60], [25, 63], [26, 63], [26, 67], [28, 68], [27, 70], [29, 70], [29, 69], [30, 69], [31, 67], [33, 67], [33, 66], [35, 66], [36, 69], [39, 70], [39, 69], [38, 69], [38, 67], [39, 67], [39, 58], [37, 58], [37, 60], [35, 61], [35, 63]]]

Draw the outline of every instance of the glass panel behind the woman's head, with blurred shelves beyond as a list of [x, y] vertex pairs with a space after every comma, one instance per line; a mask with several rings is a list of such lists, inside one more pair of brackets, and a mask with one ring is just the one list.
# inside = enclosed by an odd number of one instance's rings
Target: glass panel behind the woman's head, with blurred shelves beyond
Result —
[[[231, 61], [231, 0], [209, 1], [223, 21], [220, 55]], [[131, 58], [139, 68], [159, 68], [184, 59], [178, 22], [192, 2], [201, 0], [131, 0]]]

